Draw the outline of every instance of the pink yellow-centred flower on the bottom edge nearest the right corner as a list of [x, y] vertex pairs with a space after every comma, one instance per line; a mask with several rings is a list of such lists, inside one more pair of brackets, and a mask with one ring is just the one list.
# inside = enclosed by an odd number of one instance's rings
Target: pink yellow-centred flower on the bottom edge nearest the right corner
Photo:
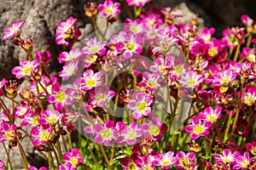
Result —
[[236, 164], [233, 169], [242, 169], [245, 170], [249, 167], [250, 163], [253, 161], [253, 158], [250, 158], [249, 152], [244, 152], [243, 156], [235, 157]]

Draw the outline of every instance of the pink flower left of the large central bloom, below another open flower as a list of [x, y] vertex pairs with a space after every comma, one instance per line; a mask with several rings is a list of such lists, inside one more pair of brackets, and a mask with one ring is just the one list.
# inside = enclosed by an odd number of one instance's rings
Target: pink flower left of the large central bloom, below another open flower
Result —
[[90, 94], [90, 105], [96, 105], [103, 107], [108, 99], [112, 99], [115, 93], [109, 90], [108, 87], [96, 87], [94, 90], [89, 92]]

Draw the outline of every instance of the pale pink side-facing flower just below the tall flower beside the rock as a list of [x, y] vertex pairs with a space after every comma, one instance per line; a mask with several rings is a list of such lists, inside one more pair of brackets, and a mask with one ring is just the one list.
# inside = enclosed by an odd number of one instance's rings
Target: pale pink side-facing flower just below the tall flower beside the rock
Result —
[[65, 62], [70, 62], [74, 61], [76, 59], [79, 59], [79, 57], [82, 55], [82, 52], [80, 51], [79, 48], [72, 48], [69, 53], [66, 51], [62, 52], [59, 57], [59, 63], [65, 63]]

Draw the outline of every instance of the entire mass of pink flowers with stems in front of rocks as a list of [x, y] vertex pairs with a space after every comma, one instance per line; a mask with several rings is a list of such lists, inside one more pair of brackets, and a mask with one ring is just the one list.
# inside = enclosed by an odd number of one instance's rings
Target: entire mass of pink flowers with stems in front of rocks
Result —
[[[80, 38], [73, 16], [61, 22], [55, 42], [67, 51], [57, 57], [57, 74], [49, 72], [51, 53], [33, 53], [34, 42], [22, 37], [24, 21], [3, 31], [3, 41], [14, 39], [28, 56], [12, 73], [30, 86], [0, 82], [0, 143], [8, 158], [0, 169], [11, 167], [12, 147], [25, 169], [47, 169], [29, 167], [24, 138], [47, 153], [49, 169], [256, 167], [255, 21], [243, 14], [243, 26], [216, 38], [214, 28], [177, 23], [183, 16], [172, 8], [143, 10], [149, 2], [126, 0], [134, 14], [113, 35], [108, 26], [121, 3], [112, 0], [84, 6], [96, 37]], [[97, 14], [107, 21], [104, 31]]]

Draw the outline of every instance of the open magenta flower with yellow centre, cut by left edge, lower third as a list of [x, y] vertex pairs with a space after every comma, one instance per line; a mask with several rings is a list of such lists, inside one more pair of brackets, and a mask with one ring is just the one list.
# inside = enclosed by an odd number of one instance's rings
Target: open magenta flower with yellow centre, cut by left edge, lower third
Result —
[[9, 124], [8, 122], [1, 122], [0, 124], [0, 143], [10, 141], [16, 137], [16, 125]]

